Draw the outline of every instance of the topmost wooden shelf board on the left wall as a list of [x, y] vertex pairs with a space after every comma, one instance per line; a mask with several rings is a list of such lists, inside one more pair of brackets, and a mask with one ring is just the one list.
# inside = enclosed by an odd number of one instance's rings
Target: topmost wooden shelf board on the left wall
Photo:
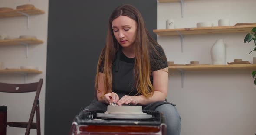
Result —
[[29, 15], [45, 13], [43, 10], [39, 10], [35, 7], [31, 7], [31, 8], [17, 9], [17, 10], [0, 11], [0, 18], [24, 16], [23, 14], [18, 13], [18, 11], [29, 14]]

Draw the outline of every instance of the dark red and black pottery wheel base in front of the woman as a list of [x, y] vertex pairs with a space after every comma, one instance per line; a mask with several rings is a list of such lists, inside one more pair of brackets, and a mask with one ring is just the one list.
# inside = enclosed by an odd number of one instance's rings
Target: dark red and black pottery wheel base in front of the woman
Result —
[[[102, 119], [97, 113], [80, 112], [72, 123], [69, 135], [166, 135], [166, 124], [158, 111], [143, 111], [151, 119]], [[95, 120], [97, 119], [97, 120]]]

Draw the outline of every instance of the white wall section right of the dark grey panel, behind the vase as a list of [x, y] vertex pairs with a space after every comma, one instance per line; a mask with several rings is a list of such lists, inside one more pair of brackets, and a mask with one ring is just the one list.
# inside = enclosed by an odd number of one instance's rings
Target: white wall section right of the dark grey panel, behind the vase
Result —
[[[254, 23], [255, 0], [191, 0], [184, 3], [158, 3], [158, 29], [165, 29], [165, 20], [173, 19], [176, 28], [196, 27], [208, 21], [218, 26], [218, 19], [236, 23]], [[253, 63], [256, 53], [253, 42], [243, 43], [247, 33], [185, 35], [181, 53], [179, 36], [158, 36], [168, 61], [175, 64], [211, 64], [210, 49], [217, 39], [226, 42], [226, 61], [235, 58]], [[207, 70], [185, 72], [181, 88], [180, 73], [169, 77], [167, 100], [177, 104], [181, 115], [181, 135], [254, 135], [256, 133], [256, 90], [253, 70]]]

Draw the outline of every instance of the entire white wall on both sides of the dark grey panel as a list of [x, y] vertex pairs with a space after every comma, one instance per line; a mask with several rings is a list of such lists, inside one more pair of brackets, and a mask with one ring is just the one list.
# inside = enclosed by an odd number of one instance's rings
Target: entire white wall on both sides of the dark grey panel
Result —
[[[46, 47], [49, 0], [0, 0], [0, 7], [13, 7], [22, 4], [34, 4], [44, 10], [45, 14], [33, 15], [30, 18], [30, 29], [26, 28], [26, 17], [0, 19], [0, 34], [18, 37], [19, 35], [36, 35], [44, 41], [40, 45], [30, 45], [29, 57], [26, 58], [25, 47], [22, 45], [0, 46], [0, 62], [5, 67], [18, 68], [20, 65], [38, 66], [42, 74], [29, 74], [28, 82], [45, 80]], [[256, 22], [255, 0], [192, 0], [185, 1], [184, 18], [181, 18], [180, 3], [158, 3], [158, 29], [165, 29], [165, 20], [174, 19], [176, 28], [195, 27], [197, 22], [209, 21], [217, 26], [217, 20], [230, 19], [230, 25], [236, 23]], [[250, 61], [256, 53], [248, 55], [254, 48], [252, 42], [244, 44], [246, 33], [185, 35], [184, 52], [181, 53], [178, 36], [158, 36], [168, 61], [177, 64], [189, 64], [200, 61], [210, 64], [210, 48], [217, 39], [226, 41], [227, 61], [242, 58]], [[177, 104], [181, 115], [181, 135], [254, 135], [256, 132], [256, 90], [251, 77], [253, 70], [220, 70], [220, 71], [187, 71], [184, 87], [178, 72], [172, 72], [168, 101]], [[24, 83], [20, 74], [0, 74], [0, 82]], [[0, 103], [8, 106], [9, 121], [26, 121], [29, 117], [34, 94], [0, 93]], [[26, 101], [16, 103], [16, 98]], [[14, 100], [14, 101], [13, 101]], [[44, 132], [45, 81], [40, 94], [41, 132]], [[25, 102], [25, 103], [24, 103]], [[18, 113], [18, 115], [16, 114]], [[8, 135], [23, 135], [25, 129], [7, 127]], [[36, 134], [31, 130], [31, 135]]]

